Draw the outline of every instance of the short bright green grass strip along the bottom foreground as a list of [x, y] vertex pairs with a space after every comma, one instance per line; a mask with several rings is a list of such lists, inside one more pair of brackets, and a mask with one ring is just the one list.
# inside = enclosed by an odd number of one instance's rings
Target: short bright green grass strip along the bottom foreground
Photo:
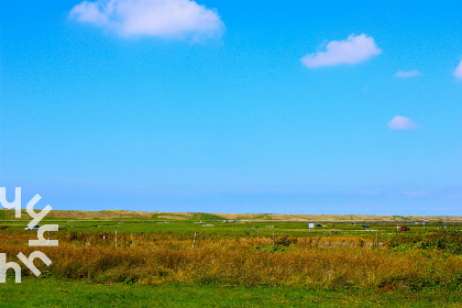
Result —
[[0, 288], [4, 307], [460, 307], [460, 293], [296, 287], [95, 285], [29, 278]]

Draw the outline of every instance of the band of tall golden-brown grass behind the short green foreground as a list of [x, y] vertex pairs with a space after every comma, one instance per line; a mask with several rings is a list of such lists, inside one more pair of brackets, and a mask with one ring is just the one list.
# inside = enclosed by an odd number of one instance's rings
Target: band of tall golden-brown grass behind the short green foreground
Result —
[[[312, 289], [462, 288], [462, 256], [438, 246], [385, 243], [361, 238], [287, 238], [200, 233], [64, 231], [59, 246], [41, 248], [45, 276], [94, 283], [300, 286]], [[30, 233], [0, 231], [0, 251], [15, 261]], [[435, 240], [435, 239], [433, 239]], [[421, 241], [419, 241], [421, 243]], [[404, 249], [405, 248], [405, 249]], [[24, 274], [29, 271], [24, 268]], [[12, 273], [10, 273], [12, 274]], [[31, 273], [29, 273], [31, 274]]]

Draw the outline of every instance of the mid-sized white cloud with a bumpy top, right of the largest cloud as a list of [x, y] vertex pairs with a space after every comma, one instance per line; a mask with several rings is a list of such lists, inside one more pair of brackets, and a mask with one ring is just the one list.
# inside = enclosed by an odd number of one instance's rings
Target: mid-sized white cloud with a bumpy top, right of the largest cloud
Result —
[[326, 52], [306, 55], [301, 63], [310, 68], [333, 66], [339, 64], [358, 64], [380, 55], [382, 50], [372, 36], [365, 34], [348, 36], [346, 41], [332, 41]]

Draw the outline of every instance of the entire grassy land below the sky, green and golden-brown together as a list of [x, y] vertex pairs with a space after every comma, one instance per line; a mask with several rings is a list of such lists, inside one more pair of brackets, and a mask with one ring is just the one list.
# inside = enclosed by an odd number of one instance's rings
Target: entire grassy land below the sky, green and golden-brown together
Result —
[[[68, 215], [66, 217], [65, 215]], [[81, 213], [84, 219], [79, 219]], [[460, 307], [459, 218], [304, 220], [271, 215], [63, 211], [42, 224], [53, 263], [22, 265], [23, 283], [0, 285], [9, 307]], [[36, 231], [0, 211], [0, 252], [29, 255]], [[356, 217], [358, 218], [358, 217]], [[226, 222], [224, 222], [226, 221]], [[233, 222], [231, 222], [233, 221]], [[363, 228], [362, 224], [369, 228]], [[410, 231], [397, 232], [396, 226]], [[444, 228], [446, 226], [446, 228]], [[118, 231], [116, 246], [116, 229]], [[31, 295], [26, 298], [26, 295]]]

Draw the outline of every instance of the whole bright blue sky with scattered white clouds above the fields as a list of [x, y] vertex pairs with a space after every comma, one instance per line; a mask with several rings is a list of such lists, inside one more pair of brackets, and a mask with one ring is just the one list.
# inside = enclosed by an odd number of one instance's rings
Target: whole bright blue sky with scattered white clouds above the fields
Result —
[[461, 13], [2, 1], [1, 186], [54, 209], [461, 216]]

